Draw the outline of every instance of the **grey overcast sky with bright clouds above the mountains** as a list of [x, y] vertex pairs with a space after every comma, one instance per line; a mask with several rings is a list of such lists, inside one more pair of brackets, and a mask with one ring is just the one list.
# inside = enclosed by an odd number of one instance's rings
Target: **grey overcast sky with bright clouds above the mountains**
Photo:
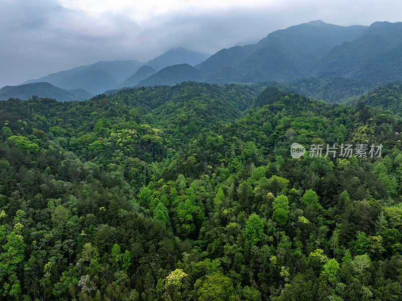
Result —
[[312, 20], [397, 22], [401, 12], [400, 0], [0, 0], [0, 87], [179, 46], [213, 54]]

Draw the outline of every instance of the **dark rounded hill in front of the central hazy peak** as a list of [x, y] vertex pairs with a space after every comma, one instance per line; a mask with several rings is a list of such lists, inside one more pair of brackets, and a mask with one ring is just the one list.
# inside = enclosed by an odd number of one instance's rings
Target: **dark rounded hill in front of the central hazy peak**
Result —
[[138, 82], [137, 86], [174, 85], [183, 81], [200, 81], [199, 71], [188, 64], [165, 67]]

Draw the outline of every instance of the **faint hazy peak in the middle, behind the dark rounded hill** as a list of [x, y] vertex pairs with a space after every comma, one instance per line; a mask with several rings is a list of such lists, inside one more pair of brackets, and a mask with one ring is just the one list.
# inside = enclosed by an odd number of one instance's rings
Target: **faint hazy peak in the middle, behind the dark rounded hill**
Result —
[[185, 63], [194, 66], [206, 60], [209, 56], [210, 55], [207, 53], [195, 52], [183, 47], [178, 47], [170, 49], [154, 59], [149, 60], [145, 65], [152, 67], [156, 71], [159, 71], [160, 69], [170, 65]]

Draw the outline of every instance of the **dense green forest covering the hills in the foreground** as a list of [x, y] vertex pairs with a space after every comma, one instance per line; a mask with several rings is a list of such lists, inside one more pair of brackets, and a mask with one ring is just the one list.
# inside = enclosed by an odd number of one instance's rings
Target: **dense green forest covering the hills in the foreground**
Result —
[[[184, 82], [0, 102], [0, 300], [400, 300], [400, 93]], [[381, 157], [310, 156], [346, 143]]]

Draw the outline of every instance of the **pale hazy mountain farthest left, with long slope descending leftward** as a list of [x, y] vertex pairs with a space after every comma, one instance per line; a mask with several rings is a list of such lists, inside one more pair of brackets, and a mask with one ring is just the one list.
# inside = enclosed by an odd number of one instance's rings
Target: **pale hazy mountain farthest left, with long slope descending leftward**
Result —
[[25, 83], [49, 82], [63, 89], [85, 89], [92, 94], [115, 88], [119, 82], [132, 75], [143, 63], [137, 60], [100, 61], [69, 70], [49, 74]]

